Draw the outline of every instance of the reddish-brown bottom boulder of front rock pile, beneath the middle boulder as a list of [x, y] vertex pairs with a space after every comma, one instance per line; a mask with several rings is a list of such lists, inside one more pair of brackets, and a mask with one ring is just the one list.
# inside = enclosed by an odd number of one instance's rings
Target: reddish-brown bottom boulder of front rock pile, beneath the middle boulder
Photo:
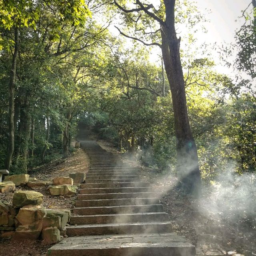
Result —
[[16, 228], [13, 239], [24, 240], [31, 239], [36, 240], [42, 231], [42, 220], [38, 220], [29, 225], [20, 225]]

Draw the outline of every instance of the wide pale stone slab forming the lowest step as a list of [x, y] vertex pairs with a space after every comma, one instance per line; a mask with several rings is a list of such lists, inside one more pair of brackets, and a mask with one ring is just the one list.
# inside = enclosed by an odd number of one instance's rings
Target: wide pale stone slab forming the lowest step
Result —
[[195, 246], [174, 233], [69, 237], [48, 256], [195, 256]]

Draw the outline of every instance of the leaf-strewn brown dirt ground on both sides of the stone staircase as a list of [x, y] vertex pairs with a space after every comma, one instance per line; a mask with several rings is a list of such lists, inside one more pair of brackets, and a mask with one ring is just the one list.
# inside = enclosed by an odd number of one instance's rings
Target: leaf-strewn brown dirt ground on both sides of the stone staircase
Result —
[[[120, 154], [110, 142], [98, 140], [95, 134], [90, 134], [97, 140], [102, 148]], [[130, 161], [123, 155], [126, 162], [140, 168], [140, 179], [149, 181], [153, 190], [160, 197], [164, 210], [168, 212], [173, 224], [174, 232], [186, 238], [197, 248], [197, 255], [256, 255], [256, 230], [252, 223], [241, 216], [237, 216], [236, 210], [216, 212], [213, 205], [219, 207], [229, 205], [228, 195], [216, 202], [212, 194], [216, 188], [205, 188], [200, 200], [184, 195], [175, 189], [177, 178], [172, 175], [164, 175], [157, 170], [140, 166], [139, 162]], [[31, 177], [38, 180], [50, 180], [56, 176], [68, 176], [69, 173], [88, 170], [88, 156], [82, 149], [78, 149], [66, 160], [60, 160], [46, 164], [33, 172]], [[17, 188], [24, 189], [24, 188]], [[75, 198], [63, 196], [50, 196], [48, 190], [38, 190], [44, 194], [44, 206], [46, 208], [74, 207]], [[11, 202], [12, 193], [0, 195], [0, 200]], [[210, 203], [209, 203], [210, 202]], [[42, 241], [12, 241], [0, 240], [0, 256], [45, 256], [50, 246]]]

